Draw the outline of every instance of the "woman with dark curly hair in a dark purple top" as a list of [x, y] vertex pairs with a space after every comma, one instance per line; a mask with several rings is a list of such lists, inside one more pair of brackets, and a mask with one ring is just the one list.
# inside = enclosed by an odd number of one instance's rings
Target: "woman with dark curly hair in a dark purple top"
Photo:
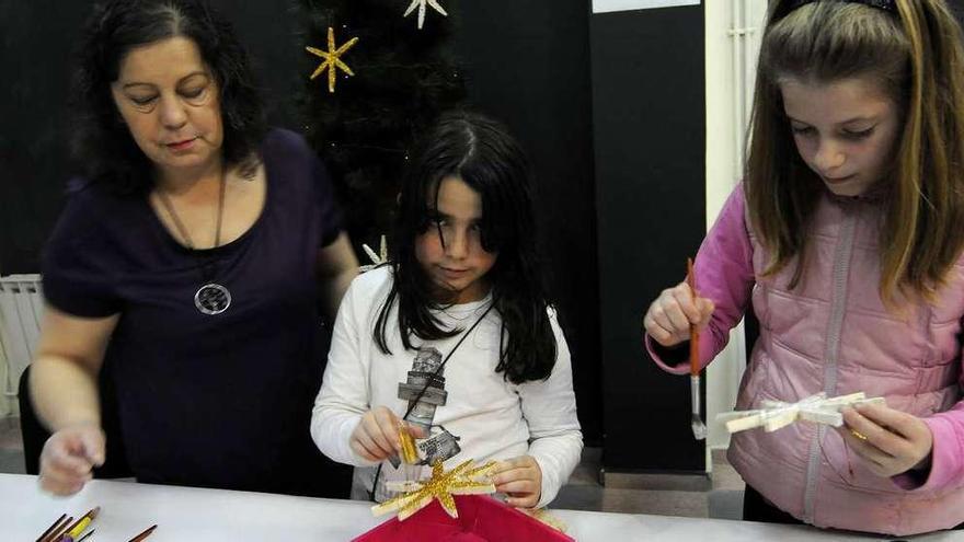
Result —
[[204, 1], [108, 1], [84, 39], [88, 171], [44, 255], [31, 374], [53, 433], [42, 486], [74, 493], [103, 463], [103, 370], [139, 481], [343, 496], [308, 433], [318, 301], [333, 315], [357, 273], [323, 165], [266, 128], [245, 53]]

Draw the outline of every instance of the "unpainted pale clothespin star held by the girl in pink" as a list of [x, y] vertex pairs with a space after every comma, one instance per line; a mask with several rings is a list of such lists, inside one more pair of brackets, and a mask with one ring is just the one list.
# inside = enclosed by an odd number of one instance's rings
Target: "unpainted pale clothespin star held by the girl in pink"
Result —
[[827, 399], [826, 393], [817, 393], [796, 403], [762, 401], [762, 408], [719, 414], [716, 420], [724, 422], [726, 430], [730, 433], [753, 429], [754, 427], [762, 427], [764, 430], [770, 433], [797, 419], [840, 427], [844, 425], [844, 415], [840, 414], [840, 410], [845, 406], [861, 404], [885, 404], [885, 401], [884, 397], [868, 399], [863, 392], [830, 399]]

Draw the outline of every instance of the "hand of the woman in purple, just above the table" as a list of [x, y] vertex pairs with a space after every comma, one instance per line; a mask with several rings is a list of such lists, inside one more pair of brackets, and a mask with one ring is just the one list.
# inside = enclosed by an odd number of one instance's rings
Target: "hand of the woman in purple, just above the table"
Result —
[[54, 495], [73, 495], [104, 464], [104, 431], [96, 424], [65, 427], [47, 439], [41, 452], [41, 488]]

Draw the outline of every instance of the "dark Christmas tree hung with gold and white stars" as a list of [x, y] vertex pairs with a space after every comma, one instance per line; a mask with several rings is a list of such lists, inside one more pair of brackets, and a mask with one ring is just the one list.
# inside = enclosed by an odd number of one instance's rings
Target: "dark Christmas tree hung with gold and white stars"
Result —
[[303, 42], [311, 48], [300, 51], [307, 66], [306, 137], [338, 186], [345, 226], [362, 254], [362, 243], [377, 246], [390, 229], [415, 140], [466, 97], [451, 54], [454, 22], [443, 14], [452, 13], [456, 2], [300, 3]]

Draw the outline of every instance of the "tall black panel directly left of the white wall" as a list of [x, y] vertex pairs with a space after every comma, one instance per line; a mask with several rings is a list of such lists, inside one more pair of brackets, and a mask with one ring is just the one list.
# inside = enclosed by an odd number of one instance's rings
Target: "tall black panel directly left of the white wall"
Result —
[[679, 282], [705, 223], [701, 5], [592, 18], [607, 471], [704, 470], [689, 379], [642, 345], [642, 316]]

